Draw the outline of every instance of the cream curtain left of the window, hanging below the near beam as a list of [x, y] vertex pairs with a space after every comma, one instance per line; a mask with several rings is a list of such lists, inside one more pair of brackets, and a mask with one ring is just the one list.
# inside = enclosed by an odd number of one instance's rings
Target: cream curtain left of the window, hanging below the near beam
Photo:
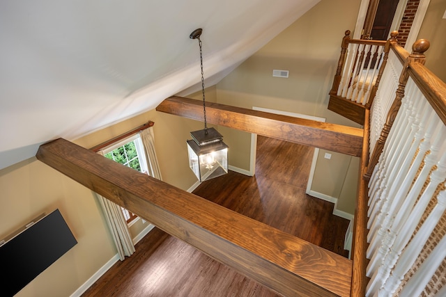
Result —
[[[98, 154], [104, 155], [104, 152], [99, 151]], [[134, 244], [132, 236], [128, 230], [127, 221], [124, 218], [123, 211], [118, 204], [102, 197], [98, 193], [98, 200], [102, 211], [104, 212], [105, 220], [109, 225], [109, 230], [112, 232], [113, 240], [118, 250], [119, 259], [123, 261], [125, 256], [130, 257], [134, 253]]]

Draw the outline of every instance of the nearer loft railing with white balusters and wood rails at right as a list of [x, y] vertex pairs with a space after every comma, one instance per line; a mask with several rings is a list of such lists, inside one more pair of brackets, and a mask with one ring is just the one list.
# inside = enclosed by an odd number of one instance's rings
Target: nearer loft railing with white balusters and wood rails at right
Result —
[[446, 84], [424, 67], [426, 40], [412, 54], [387, 45], [364, 127], [351, 296], [446, 296]]

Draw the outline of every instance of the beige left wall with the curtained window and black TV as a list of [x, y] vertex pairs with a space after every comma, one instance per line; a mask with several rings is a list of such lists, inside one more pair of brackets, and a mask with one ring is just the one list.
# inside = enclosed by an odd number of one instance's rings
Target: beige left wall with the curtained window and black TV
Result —
[[[206, 94], [215, 101], [215, 88]], [[206, 97], [206, 99], [208, 99]], [[187, 190], [197, 179], [187, 163], [186, 140], [202, 122], [149, 111], [74, 143], [89, 148], [153, 120], [155, 150], [165, 182]], [[0, 170], [0, 239], [43, 212], [59, 208], [78, 243], [17, 296], [70, 296], [104, 266], [116, 249], [93, 193], [36, 158]], [[137, 236], [148, 223], [131, 228]]]

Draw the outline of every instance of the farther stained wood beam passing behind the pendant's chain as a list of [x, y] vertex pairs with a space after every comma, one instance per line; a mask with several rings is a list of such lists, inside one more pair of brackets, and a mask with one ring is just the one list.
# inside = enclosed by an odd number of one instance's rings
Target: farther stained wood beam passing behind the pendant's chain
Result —
[[[157, 111], [203, 120], [203, 102], [185, 97], [169, 97]], [[293, 118], [252, 109], [206, 103], [206, 121], [283, 141], [309, 145], [351, 156], [361, 156], [364, 131], [314, 120]]]

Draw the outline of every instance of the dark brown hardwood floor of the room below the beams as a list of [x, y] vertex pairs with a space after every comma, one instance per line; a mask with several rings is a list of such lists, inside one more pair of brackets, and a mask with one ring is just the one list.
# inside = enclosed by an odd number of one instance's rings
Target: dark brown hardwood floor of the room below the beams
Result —
[[[314, 149], [258, 136], [256, 175], [203, 182], [194, 194], [346, 257], [348, 220], [305, 194]], [[161, 230], [116, 263], [83, 296], [278, 296]]]

